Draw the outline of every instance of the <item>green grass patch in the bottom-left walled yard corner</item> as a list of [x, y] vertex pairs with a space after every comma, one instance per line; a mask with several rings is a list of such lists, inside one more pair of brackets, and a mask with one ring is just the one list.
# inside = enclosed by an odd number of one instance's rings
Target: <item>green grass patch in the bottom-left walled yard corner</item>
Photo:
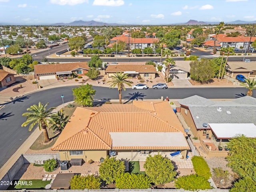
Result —
[[[18, 183], [22, 182], [22, 183]], [[16, 189], [44, 189], [47, 184], [50, 184], [51, 181], [42, 181], [40, 179], [31, 179], [31, 180], [13, 180], [12, 185], [9, 186], [8, 190]]]

